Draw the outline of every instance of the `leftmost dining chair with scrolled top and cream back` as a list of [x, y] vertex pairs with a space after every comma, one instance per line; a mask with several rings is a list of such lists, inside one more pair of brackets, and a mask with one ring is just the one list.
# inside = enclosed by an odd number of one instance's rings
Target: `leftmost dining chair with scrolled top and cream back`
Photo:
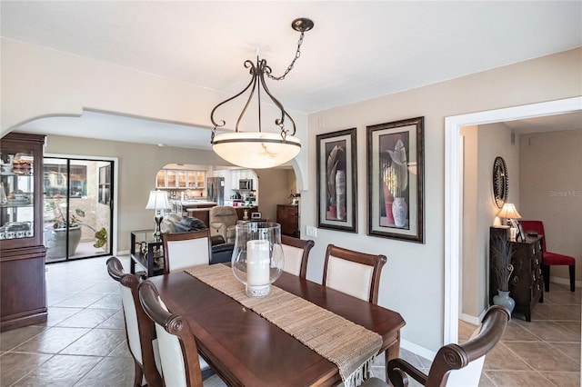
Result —
[[119, 283], [125, 319], [125, 333], [129, 352], [134, 357], [134, 386], [141, 386], [145, 376], [150, 386], [162, 386], [162, 378], [156, 366], [156, 334], [154, 323], [147, 317], [141, 303], [134, 274], [124, 273], [123, 265], [116, 257], [107, 260], [107, 273]]

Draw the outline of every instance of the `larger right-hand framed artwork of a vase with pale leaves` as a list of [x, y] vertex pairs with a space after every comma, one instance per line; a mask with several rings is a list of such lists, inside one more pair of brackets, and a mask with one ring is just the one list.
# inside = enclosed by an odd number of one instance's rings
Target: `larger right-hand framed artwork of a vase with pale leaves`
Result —
[[368, 235], [424, 243], [424, 117], [367, 126]]

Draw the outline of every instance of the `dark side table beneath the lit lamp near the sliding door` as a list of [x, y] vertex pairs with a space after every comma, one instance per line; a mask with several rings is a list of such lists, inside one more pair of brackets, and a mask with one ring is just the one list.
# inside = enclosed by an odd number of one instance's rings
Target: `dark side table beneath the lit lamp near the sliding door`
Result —
[[154, 238], [154, 230], [137, 230], [131, 232], [129, 271], [135, 274], [135, 263], [146, 270], [147, 276], [152, 277], [164, 273], [163, 265], [156, 263], [156, 259], [164, 258], [162, 240]]

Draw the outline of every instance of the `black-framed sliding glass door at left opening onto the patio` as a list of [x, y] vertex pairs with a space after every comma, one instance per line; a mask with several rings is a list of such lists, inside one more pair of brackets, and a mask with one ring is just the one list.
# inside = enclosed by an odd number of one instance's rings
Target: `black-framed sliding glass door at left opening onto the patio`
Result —
[[46, 263], [111, 254], [114, 162], [45, 157]]

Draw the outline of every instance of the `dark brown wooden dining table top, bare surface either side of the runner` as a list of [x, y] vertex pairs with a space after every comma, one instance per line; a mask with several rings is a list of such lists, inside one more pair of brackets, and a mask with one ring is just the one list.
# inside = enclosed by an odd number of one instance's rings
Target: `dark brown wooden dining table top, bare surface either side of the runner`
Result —
[[[336, 364], [192, 275], [177, 272], [149, 281], [168, 309], [186, 318], [198, 352], [226, 384], [297, 387], [341, 382]], [[405, 325], [399, 313], [289, 273], [274, 285], [378, 333], [386, 358], [398, 356]]]

